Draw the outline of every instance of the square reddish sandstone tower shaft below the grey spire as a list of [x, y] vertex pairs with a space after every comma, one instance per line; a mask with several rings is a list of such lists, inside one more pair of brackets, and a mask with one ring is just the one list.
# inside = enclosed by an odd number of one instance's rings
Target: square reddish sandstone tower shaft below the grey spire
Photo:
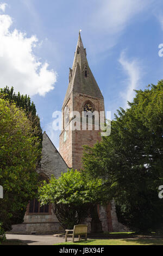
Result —
[[[64, 125], [64, 109], [69, 107], [70, 111], [78, 111], [80, 117], [82, 117], [82, 111], [85, 102], [92, 103], [96, 111], [104, 111], [104, 100], [91, 97], [90, 95], [81, 94], [78, 92], [72, 92], [68, 102], [62, 108], [62, 117]], [[71, 119], [70, 123], [71, 125]], [[82, 168], [82, 156], [83, 156], [83, 145], [89, 145], [92, 147], [97, 141], [101, 141], [100, 130], [95, 130], [95, 125], [92, 125], [93, 130], [82, 130], [82, 120], [80, 120], [80, 130], [69, 130], [66, 131], [66, 141], [64, 141], [65, 126], [60, 135], [60, 154], [67, 163], [68, 167], [74, 169]]]

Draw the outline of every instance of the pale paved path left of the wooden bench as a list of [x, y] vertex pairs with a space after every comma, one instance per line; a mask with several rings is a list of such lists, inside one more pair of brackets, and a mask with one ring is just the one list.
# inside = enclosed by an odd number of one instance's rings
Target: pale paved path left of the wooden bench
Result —
[[[54, 245], [55, 243], [65, 242], [65, 237], [53, 235], [12, 235], [7, 234], [7, 239], [22, 240], [27, 245]], [[71, 240], [71, 237], [70, 237]]]

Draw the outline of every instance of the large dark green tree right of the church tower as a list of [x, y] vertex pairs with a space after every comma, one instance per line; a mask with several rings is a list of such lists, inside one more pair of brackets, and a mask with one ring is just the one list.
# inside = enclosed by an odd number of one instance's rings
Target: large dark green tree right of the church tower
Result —
[[163, 201], [163, 80], [136, 90], [129, 108], [118, 110], [111, 135], [95, 147], [85, 147], [84, 172], [108, 180], [119, 220], [133, 230], [162, 223]]

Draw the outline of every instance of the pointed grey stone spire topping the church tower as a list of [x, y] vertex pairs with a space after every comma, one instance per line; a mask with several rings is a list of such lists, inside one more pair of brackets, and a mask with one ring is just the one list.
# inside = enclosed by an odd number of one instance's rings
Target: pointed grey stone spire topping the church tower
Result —
[[101, 90], [93, 76], [86, 58], [86, 49], [83, 46], [79, 31], [79, 37], [74, 55], [72, 69], [69, 74], [69, 84], [63, 106], [72, 91], [84, 93], [90, 96], [103, 98]]

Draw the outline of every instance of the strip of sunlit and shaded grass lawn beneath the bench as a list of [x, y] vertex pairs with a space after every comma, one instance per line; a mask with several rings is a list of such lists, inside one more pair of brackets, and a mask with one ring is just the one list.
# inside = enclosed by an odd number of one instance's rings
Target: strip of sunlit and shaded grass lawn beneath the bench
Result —
[[64, 242], [57, 245], [163, 245], [163, 239], [90, 239], [87, 241]]

